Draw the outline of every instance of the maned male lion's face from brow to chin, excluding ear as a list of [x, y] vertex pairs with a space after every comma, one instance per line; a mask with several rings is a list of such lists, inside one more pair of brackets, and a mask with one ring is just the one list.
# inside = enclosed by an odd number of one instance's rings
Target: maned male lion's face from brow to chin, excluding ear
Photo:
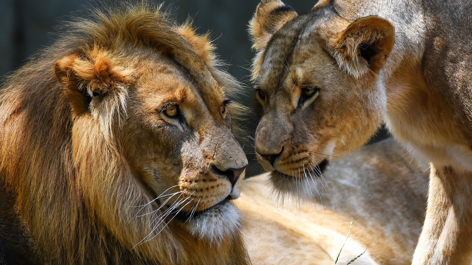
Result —
[[238, 228], [231, 200], [247, 166], [231, 133], [231, 102], [215, 80], [201, 90], [169, 59], [140, 60], [145, 71], [128, 93], [121, 134], [129, 166], [161, 205], [159, 218], [221, 239]]

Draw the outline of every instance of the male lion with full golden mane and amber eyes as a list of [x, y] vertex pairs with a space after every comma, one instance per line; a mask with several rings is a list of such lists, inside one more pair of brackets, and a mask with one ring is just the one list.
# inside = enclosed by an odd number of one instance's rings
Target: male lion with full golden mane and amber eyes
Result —
[[249, 264], [237, 87], [207, 36], [144, 5], [63, 31], [0, 91], [0, 260]]

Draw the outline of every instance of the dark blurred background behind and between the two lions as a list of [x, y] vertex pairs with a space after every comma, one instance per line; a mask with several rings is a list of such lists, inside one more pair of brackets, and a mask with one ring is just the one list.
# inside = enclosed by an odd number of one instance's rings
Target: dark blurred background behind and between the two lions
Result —
[[[228, 71], [248, 87], [250, 62], [253, 58], [251, 43], [247, 33], [248, 21], [260, 0], [167, 0], [175, 18], [183, 22], [194, 18], [194, 25], [200, 33], [211, 31], [221, 59], [229, 63]], [[299, 14], [308, 12], [316, 0], [284, 0]], [[62, 21], [70, 20], [72, 12], [96, 6], [90, 0], [0, 0], [0, 75], [25, 64], [26, 60], [43, 46], [56, 38], [55, 27]], [[253, 91], [247, 89], [242, 97], [245, 105], [251, 107]], [[247, 152], [250, 165], [247, 176], [262, 172], [254, 157], [253, 140], [257, 119], [247, 128], [247, 137], [241, 143]], [[385, 138], [380, 131], [375, 140]], [[375, 141], [374, 140], [374, 141]]]

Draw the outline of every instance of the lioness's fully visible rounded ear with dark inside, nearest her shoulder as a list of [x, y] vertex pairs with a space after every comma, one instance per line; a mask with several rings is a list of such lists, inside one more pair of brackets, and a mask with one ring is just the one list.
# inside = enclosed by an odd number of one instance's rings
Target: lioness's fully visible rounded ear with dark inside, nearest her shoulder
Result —
[[378, 74], [395, 42], [395, 28], [387, 20], [370, 16], [355, 20], [334, 41], [334, 58], [358, 78], [371, 69]]

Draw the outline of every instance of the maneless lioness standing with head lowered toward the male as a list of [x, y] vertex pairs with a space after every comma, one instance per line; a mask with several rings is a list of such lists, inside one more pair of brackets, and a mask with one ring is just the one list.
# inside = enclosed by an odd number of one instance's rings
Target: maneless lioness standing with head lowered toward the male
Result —
[[274, 184], [296, 192], [293, 177], [322, 174], [383, 120], [431, 163], [413, 264], [471, 264], [471, 13], [470, 1], [321, 0], [298, 16], [261, 1], [251, 21], [255, 148]]

